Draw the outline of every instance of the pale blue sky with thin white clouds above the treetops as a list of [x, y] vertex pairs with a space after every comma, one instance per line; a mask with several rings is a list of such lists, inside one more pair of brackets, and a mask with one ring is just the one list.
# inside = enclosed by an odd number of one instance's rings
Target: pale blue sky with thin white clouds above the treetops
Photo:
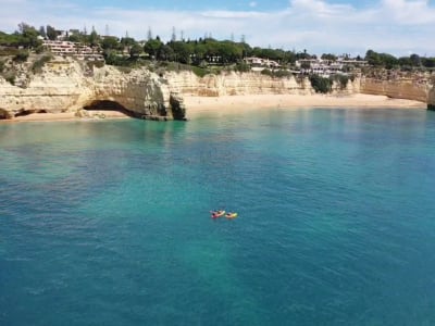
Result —
[[92, 27], [137, 40], [243, 37], [251, 47], [364, 55], [435, 57], [435, 0], [0, 0], [0, 30]]

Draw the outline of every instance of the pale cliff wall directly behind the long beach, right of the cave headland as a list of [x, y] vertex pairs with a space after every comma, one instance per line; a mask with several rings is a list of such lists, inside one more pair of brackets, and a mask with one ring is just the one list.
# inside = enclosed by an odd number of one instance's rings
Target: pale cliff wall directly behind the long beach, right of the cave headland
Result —
[[[308, 78], [276, 78], [259, 73], [225, 73], [219, 76], [207, 75], [202, 78], [189, 72], [169, 73], [165, 75], [170, 89], [185, 96], [219, 97], [232, 95], [311, 95], [314, 89]], [[407, 99], [435, 105], [435, 89], [427, 77], [357, 77], [349, 80], [341, 89], [333, 85], [333, 93], [365, 93], [386, 96], [394, 99]], [[431, 106], [432, 105], [432, 106]]]

